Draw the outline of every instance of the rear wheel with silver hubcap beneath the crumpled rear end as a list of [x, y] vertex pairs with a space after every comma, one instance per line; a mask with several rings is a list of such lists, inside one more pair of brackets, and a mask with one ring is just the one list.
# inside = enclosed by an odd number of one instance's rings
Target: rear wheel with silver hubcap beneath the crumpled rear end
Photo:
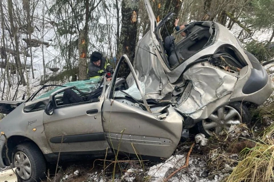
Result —
[[250, 122], [251, 114], [248, 108], [241, 102], [232, 102], [217, 109], [197, 125], [200, 133], [210, 137], [213, 134], [219, 134], [224, 128], [231, 125], [239, 125], [240, 123], [249, 125]]

